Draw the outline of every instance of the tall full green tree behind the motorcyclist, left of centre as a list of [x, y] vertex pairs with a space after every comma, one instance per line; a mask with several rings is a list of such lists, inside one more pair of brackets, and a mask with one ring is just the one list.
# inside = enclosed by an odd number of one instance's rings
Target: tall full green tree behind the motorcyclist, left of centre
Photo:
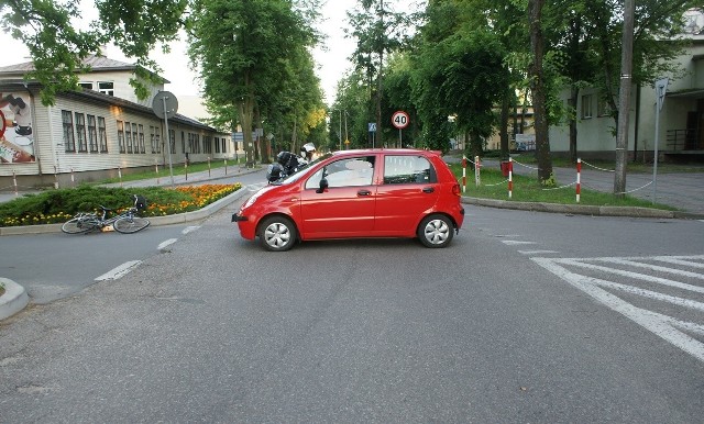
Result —
[[201, 64], [205, 97], [237, 115], [231, 127], [241, 124], [246, 161], [254, 163], [255, 108], [280, 89], [286, 67], [315, 33], [287, 0], [196, 0], [193, 9], [189, 55]]

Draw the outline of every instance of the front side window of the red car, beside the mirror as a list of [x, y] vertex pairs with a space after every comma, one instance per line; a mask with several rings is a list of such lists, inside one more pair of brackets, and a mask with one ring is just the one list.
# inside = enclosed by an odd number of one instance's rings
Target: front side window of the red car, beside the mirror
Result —
[[306, 181], [306, 189], [320, 187], [322, 178], [328, 187], [371, 186], [374, 177], [374, 156], [362, 156], [332, 161], [317, 170]]

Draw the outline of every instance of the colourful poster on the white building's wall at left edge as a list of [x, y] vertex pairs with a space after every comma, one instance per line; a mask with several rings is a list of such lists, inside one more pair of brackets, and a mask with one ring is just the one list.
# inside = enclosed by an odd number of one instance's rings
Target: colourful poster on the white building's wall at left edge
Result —
[[0, 92], [0, 164], [35, 161], [32, 108], [28, 97]]

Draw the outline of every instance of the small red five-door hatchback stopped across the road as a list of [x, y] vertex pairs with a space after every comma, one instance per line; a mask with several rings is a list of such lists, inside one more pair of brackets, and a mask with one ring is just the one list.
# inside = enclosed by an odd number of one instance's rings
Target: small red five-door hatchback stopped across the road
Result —
[[267, 250], [298, 241], [418, 237], [446, 247], [464, 221], [457, 178], [440, 152], [360, 149], [323, 155], [254, 193], [232, 215]]

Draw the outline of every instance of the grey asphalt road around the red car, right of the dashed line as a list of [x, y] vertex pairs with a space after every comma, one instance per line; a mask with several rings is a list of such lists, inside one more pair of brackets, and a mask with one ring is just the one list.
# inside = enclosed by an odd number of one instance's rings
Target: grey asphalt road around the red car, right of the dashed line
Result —
[[0, 422], [701, 422], [700, 221], [468, 207], [447, 249], [271, 254], [235, 208], [0, 324]]

